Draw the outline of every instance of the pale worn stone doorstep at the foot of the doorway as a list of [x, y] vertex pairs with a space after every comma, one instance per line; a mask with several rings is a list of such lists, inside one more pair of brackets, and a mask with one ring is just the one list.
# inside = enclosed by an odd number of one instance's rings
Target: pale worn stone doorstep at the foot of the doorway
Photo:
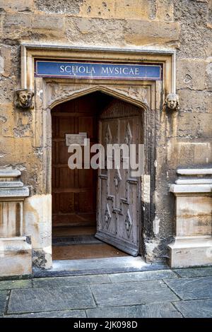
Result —
[[165, 263], [146, 263], [141, 256], [75, 259], [53, 261], [52, 268], [49, 270], [33, 268], [33, 277], [155, 271], [167, 268], [168, 266]]

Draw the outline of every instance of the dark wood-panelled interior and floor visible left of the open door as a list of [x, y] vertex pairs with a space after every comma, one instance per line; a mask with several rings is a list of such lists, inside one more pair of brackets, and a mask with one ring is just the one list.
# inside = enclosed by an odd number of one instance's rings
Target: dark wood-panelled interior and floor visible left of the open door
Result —
[[[126, 256], [95, 239], [98, 170], [70, 170], [66, 134], [87, 133], [98, 143], [98, 116], [114, 98], [92, 93], [52, 109], [53, 259]], [[84, 165], [84, 160], [83, 160]]]

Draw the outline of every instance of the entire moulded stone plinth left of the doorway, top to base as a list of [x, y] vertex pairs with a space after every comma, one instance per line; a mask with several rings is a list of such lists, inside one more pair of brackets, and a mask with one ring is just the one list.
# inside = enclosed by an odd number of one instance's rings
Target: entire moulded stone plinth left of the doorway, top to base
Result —
[[0, 170], [0, 276], [32, 271], [32, 246], [23, 236], [23, 202], [29, 189], [20, 175], [19, 170]]

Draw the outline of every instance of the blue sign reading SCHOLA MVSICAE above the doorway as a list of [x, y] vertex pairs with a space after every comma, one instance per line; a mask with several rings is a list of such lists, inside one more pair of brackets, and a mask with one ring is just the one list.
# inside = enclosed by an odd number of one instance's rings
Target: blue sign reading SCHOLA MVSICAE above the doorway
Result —
[[59, 78], [161, 80], [161, 65], [35, 61], [35, 76]]

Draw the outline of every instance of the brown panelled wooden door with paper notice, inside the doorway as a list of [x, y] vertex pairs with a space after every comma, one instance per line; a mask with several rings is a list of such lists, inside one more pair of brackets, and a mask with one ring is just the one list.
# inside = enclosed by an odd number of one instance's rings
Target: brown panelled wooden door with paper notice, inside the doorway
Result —
[[87, 133], [90, 146], [98, 141], [96, 100], [92, 95], [64, 102], [52, 110], [53, 226], [96, 225], [96, 170], [70, 170], [66, 134]]

